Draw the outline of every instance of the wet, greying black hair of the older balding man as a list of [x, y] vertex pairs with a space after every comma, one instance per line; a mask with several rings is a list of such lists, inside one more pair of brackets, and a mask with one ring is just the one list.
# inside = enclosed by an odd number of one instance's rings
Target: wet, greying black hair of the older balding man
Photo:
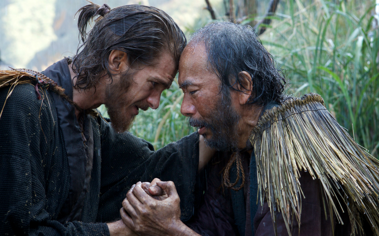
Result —
[[226, 86], [242, 91], [234, 85], [241, 85], [239, 74], [246, 71], [253, 82], [248, 104], [264, 106], [271, 101], [280, 103], [284, 99], [284, 72], [278, 68], [249, 25], [227, 22], [210, 24], [194, 32], [189, 43], [205, 44], [208, 63], [220, 78], [222, 90]]

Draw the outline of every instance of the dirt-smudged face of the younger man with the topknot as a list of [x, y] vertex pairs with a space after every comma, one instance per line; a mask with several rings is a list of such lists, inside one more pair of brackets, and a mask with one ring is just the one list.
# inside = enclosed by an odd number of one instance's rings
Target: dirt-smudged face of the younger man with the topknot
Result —
[[139, 109], [158, 108], [160, 94], [171, 86], [176, 71], [171, 54], [163, 51], [152, 65], [141, 65], [127, 73], [114, 80], [106, 90], [105, 106], [112, 126], [118, 132], [130, 127]]

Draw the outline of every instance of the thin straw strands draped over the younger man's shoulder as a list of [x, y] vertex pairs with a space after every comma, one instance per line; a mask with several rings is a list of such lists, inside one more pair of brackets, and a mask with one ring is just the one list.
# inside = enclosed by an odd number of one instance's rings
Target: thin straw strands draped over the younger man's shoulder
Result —
[[90, 114], [94, 117], [98, 116], [98, 113], [95, 110], [83, 110], [76, 103], [74, 103], [65, 93], [64, 89], [57, 85], [56, 82], [46, 77], [45, 75], [28, 69], [13, 69], [12, 70], [0, 70], [0, 89], [9, 86], [9, 90], [7, 96], [5, 98], [5, 102], [1, 108], [0, 118], [2, 115], [2, 111], [4, 110], [6, 100], [12, 94], [13, 89], [17, 85], [22, 84], [32, 84], [35, 87], [35, 92], [37, 93], [37, 99], [41, 98], [38, 88], [40, 89], [50, 89], [56, 92], [59, 96], [61, 96], [64, 100], [73, 105], [80, 113], [85, 112], [86, 114]]

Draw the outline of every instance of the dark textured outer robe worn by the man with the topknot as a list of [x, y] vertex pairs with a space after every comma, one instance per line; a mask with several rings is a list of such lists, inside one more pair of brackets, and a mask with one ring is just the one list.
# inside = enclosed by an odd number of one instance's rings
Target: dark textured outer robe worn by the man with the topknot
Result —
[[[8, 89], [0, 89], [0, 104]], [[50, 91], [40, 93], [38, 100], [33, 85], [16, 86], [0, 118], [0, 235], [109, 235], [100, 222], [119, 217], [132, 184], [154, 177], [175, 182], [182, 217], [190, 217], [197, 132], [155, 152], [148, 142], [114, 132], [99, 117], [91, 118], [93, 168], [81, 221], [57, 221], [70, 189], [70, 170], [54, 99]]]

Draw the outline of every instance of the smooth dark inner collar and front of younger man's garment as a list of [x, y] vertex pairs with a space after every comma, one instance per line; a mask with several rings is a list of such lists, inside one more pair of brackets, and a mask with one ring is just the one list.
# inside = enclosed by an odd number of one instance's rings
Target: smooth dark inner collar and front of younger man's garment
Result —
[[[60, 60], [49, 66], [42, 74], [49, 78], [54, 78], [54, 81], [64, 89], [64, 93], [72, 99], [72, 81], [67, 65], [67, 59]], [[84, 198], [92, 170], [93, 141], [91, 137], [91, 149], [85, 146], [79, 122], [75, 116], [75, 108], [58, 94], [53, 92], [51, 95], [57, 111], [58, 124], [61, 128], [60, 130], [62, 130], [70, 171], [70, 190], [59, 213], [58, 221], [61, 223], [79, 221], [81, 220]], [[90, 116], [85, 116], [83, 122], [87, 124], [87, 134], [91, 131], [91, 136], [93, 136]], [[90, 139], [90, 137], [87, 139]], [[91, 155], [89, 155], [90, 153]], [[91, 166], [88, 166], [88, 164], [91, 164]]]

